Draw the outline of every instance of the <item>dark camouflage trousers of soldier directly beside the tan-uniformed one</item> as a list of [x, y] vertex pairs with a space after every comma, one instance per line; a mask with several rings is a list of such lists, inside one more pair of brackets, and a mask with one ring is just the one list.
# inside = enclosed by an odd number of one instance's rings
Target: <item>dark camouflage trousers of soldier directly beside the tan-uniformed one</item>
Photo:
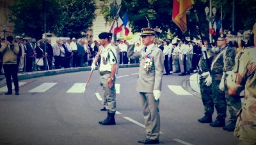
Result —
[[237, 120], [236, 114], [242, 107], [242, 102], [239, 96], [229, 95], [227, 88], [227, 81], [225, 80], [225, 97], [227, 100], [227, 107], [230, 113], [230, 120]]

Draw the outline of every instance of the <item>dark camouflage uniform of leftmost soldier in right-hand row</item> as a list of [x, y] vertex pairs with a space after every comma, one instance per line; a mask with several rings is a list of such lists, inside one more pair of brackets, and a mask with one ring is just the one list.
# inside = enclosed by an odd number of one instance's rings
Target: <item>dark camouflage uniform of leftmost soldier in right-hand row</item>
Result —
[[[207, 50], [207, 53], [209, 53], [210, 57], [209, 59], [209, 64], [212, 62], [212, 55], [213, 52], [211, 49]], [[200, 58], [199, 60], [199, 71], [198, 75], [200, 76], [200, 92], [201, 92], [201, 97], [202, 97], [202, 102], [204, 104], [204, 113], [205, 114], [210, 114], [212, 115], [214, 112], [214, 102], [212, 98], [212, 90], [211, 86], [205, 85], [205, 79], [207, 78], [210, 69], [207, 64], [207, 60], [204, 58], [204, 55]]]

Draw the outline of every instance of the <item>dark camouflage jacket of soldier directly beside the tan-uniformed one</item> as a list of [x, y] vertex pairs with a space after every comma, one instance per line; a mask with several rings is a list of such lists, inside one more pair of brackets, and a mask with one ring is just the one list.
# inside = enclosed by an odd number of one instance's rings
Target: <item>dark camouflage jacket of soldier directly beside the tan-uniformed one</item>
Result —
[[232, 71], [234, 69], [236, 48], [227, 46], [225, 49], [226, 49], [226, 53], [223, 54], [223, 57], [224, 57], [223, 71], [227, 72], [227, 71]]

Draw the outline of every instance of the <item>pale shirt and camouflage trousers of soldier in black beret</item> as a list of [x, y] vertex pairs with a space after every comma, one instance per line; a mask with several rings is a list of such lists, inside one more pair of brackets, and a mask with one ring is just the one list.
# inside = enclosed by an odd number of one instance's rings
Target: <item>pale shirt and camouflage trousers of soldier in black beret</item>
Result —
[[109, 44], [106, 48], [101, 48], [100, 53], [100, 81], [104, 90], [104, 106], [109, 109], [109, 113], [116, 112], [116, 90], [115, 77], [113, 79], [113, 86], [109, 88], [108, 80], [111, 76], [111, 65], [116, 64], [116, 49]]

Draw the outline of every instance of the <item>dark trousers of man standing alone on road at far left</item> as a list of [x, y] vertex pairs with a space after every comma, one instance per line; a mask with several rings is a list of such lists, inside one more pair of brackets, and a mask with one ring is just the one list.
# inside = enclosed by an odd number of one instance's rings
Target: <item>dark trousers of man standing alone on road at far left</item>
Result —
[[3, 67], [4, 67], [4, 76], [6, 78], [6, 85], [8, 88], [8, 92], [12, 92], [12, 79], [15, 87], [14, 90], [16, 92], [19, 91], [17, 64], [4, 64]]

